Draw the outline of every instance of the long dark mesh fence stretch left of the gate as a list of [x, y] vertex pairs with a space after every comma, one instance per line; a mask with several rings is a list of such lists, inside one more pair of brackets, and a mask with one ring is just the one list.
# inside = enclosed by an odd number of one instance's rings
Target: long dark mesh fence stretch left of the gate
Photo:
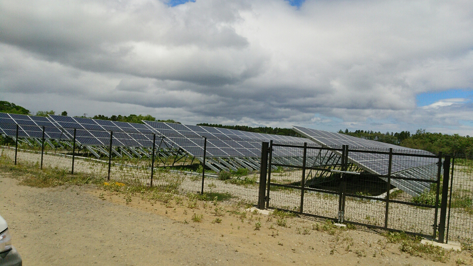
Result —
[[[14, 127], [16, 125], [12, 125]], [[57, 128], [46, 127], [44, 131], [52, 130]], [[35, 136], [41, 136], [41, 133]], [[151, 130], [139, 132], [136, 129], [111, 132], [94, 128], [75, 129], [74, 145], [74, 128], [65, 128], [64, 138], [45, 139], [43, 145], [42, 139], [22, 134], [18, 138], [16, 152], [15, 141], [1, 147], [1, 155], [11, 161], [16, 156], [18, 164], [28, 163], [38, 168], [42, 165], [73, 171], [75, 174], [83, 173], [103, 179], [104, 182], [142, 186], [152, 184], [182, 194], [204, 192], [212, 198], [218, 196], [249, 203], [255, 203], [258, 197], [259, 158], [244, 156], [248, 155], [248, 151], [260, 154], [261, 142], [258, 141], [232, 140], [233, 146], [241, 152], [234, 154], [238, 156], [229, 157], [229, 147], [217, 146], [221, 140], [210, 139], [206, 143], [208, 153], [204, 165], [202, 147], [206, 139], [194, 135], [168, 133], [163, 136]], [[176, 144], [184, 139], [187, 141], [184, 144], [188, 146]]]

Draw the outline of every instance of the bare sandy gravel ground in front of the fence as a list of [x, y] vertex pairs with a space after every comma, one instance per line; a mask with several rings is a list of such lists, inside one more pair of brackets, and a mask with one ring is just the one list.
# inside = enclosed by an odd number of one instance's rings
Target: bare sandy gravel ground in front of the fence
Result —
[[[216, 216], [220, 207], [223, 216]], [[302, 218], [280, 227], [267, 215], [232, 214], [242, 210], [231, 205], [165, 206], [93, 186], [36, 189], [19, 186], [8, 173], [0, 173], [0, 210], [24, 265], [473, 264], [468, 252], [452, 253], [446, 264], [412, 257], [366, 230], [330, 234], [312, 229], [321, 222]], [[202, 221], [194, 222], [194, 214]], [[213, 223], [216, 218], [221, 223]]]

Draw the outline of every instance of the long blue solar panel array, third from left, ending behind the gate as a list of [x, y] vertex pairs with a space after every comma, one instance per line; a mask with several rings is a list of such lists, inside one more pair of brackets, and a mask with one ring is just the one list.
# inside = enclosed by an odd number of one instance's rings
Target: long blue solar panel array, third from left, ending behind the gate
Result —
[[[311, 142], [305, 138], [253, 133], [240, 130], [183, 125], [176, 123], [143, 121], [159, 134], [194, 156], [202, 156], [204, 137], [207, 138], [206, 155], [209, 157], [260, 157], [261, 142]], [[286, 156], [300, 156], [287, 154]]]

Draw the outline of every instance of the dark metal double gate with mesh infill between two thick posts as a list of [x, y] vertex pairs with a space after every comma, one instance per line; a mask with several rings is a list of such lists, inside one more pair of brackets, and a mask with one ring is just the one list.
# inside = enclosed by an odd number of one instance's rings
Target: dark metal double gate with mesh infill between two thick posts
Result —
[[262, 147], [260, 208], [444, 242], [447, 197], [440, 195], [448, 194], [450, 156], [307, 143]]

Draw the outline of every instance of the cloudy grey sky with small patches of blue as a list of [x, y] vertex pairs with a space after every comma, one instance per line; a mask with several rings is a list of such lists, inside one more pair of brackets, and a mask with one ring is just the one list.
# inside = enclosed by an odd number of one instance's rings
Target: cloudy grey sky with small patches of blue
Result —
[[0, 100], [473, 136], [471, 0], [2, 0]]

